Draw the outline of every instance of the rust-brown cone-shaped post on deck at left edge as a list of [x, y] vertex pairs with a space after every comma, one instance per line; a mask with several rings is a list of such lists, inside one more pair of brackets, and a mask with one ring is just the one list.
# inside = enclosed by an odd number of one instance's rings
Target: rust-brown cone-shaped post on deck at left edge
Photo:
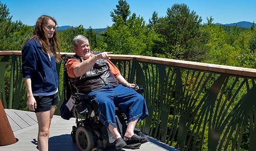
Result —
[[12, 132], [9, 120], [3, 108], [2, 101], [0, 100], [0, 146], [6, 146], [16, 143], [16, 138]]

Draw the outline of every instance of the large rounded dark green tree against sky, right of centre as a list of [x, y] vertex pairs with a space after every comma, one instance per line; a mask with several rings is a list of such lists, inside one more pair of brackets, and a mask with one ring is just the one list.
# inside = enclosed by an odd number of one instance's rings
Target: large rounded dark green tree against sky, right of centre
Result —
[[169, 24], [168, 42], [173, 46], [180, 44], [184, 49], [184, 59], [189, 59], [192, 50], [191, 41], [199, 38], [201, 17], [195, 11], [190, 11], [186, 4], [174, 4], [167, 8], [167, 20]]

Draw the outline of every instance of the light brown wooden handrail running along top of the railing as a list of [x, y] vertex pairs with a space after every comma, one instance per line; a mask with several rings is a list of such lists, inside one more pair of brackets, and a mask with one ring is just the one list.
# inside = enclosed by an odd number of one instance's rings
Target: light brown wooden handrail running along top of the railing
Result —
[[[69, 56], [72, 56], [74, 53], [61, 52], [60, 54], [61, 55], [68, 54]], [[21, 51], [12, 51], [12, 50], [0, 51], [0, 56], [3, 56], [3, 55], [21, 56]], [[224, 66], [224, 65], [217, 65], [217, 64], [192, 62], [192, 61], [184, 61], [184, 60], [176, 60], [176, 59], [164, 59], [164, 58], [157, 58], [157, 57], [137, 56], [137, 55], [111, 54], [110, 58], [116, 59], [116, 60], [135, 60], [140, 62], [161, 64], [166, 66], [182, 67], [182, 68], [190, 68], [195, 70], [203, 70], [208, 72], [230, 74], [234, 76], [256, 77], [256, 69], [253, 69], [253, 68]]]

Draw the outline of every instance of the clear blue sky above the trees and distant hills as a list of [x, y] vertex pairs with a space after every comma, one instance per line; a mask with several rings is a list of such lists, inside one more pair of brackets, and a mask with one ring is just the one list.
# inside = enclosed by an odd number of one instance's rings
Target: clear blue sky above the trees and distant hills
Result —
[[[111, 26], [110, 11], [116, 9], [118, 0], [0, 0], [9, 8], [12, 20], [20, 20], [26, 25], [35, 25], [41, 15], [49, 15], [57, 20], [58, 26], [83, 25], [105, 28]], [[154, 11], [159, 17], [166, 16], [167, 8], [173, 4], [185, 3], [202, 17], [213, 17], [214, 23], [256, 22], [256, 0], [126, 0], [131, 13], [143, 17], [146, 23]]]

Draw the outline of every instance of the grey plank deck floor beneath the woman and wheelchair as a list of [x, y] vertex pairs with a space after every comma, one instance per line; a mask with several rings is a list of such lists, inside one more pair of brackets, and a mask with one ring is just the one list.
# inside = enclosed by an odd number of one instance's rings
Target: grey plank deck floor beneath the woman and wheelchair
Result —
[[[17, 143], [0, 146], [0, 151], [38, 151], [37, 149], [37, 117], [34, 112], [15, 109], [5, 109], [9, 123]], [[64, 120], [60, 116], [54, 116], [50, 128], [49, 151], [79, 151], [76, 143], [72, 142], [70, 132], [75, 125], [75, 119]], [[171, 146], [160, 143], [150, 138], [150, 141], [141, 145], [136, 151], [178, 151]], [[114, 147], [105, 151], [117, 151]], [[119, 151], [132, 151], [121, 149]]]

